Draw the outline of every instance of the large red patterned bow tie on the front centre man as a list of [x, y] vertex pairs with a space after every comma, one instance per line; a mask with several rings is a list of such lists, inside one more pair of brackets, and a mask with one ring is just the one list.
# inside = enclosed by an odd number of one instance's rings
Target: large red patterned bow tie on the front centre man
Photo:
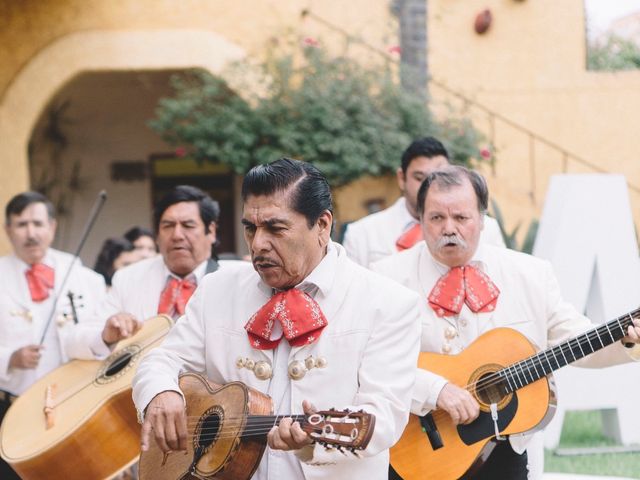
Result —
[[271, 297], [244, 326], [253, 348], [271, 350], [278, 346], [282, 337], [271, 340], [276, 320], [292, 347], [315, 342], [327, 326], [327, 319], [313, 298], [295, 288], [285, 290]]

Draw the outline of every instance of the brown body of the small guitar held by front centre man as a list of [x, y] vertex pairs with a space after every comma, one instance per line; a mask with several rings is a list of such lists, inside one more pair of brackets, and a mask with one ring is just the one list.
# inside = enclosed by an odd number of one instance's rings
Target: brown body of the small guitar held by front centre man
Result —
[[140, 480], [251, 478], [266, 435], [244, 436], [248, 416], [271, 414], [271, 399], [240, 382], [219, 386], [191, 373], [180, 377], [180, 389], [187, 405], [187, 451], [165, 455], [152, 439], [140, 455]]

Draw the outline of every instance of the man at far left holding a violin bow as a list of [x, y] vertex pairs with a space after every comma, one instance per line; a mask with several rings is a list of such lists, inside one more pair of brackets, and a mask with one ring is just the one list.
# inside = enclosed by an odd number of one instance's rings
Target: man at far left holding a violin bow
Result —
[[[4, 228], [13, 253], [0, 258], [0, 421], [37, 379], [69, 358], [99, 354], [101, 342], [82, 324], [106, 293], [102, 276], [51, 248], [55, 209], [44, 195], [13, 197]], [[0, 460], [0, 478], [19, 477]]]

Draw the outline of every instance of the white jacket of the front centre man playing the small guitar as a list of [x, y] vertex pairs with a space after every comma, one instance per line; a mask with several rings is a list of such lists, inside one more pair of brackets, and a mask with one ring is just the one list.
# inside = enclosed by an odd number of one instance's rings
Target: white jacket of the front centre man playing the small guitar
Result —
[[[138, 410], [144, 411], [162, 391], [178, 391], [178, 374], [184, 370], [204, 372], [216, 383], [241, 381], [266, 392], [270, 379], [243, 366], [243, 360], [287, 369], [312, 356], [323, 368], [311, 368], [297, 378], [290, 375], [292, 412], [281, 413], [302, 413], [306, 399], [319, 410], [363, 409], [376, 416], [376, 425], [361, 459], [317, 445], [302, 449], [299, 458], [304, 460], [305, 478], [386, 480], [388, 449], [408, 420], [420, 335], [417, 297], [354, 264], [339, 245], [332, 248], [337, 250], [337, 266], [315, 294], [328, 320], [318, 341], [292, 347], [288, 365], [274, 365], [274, 351], [253, 349], [244, 329], [251, 315], [269, 300], [271, 289], [251, 264], [221, 269], [203, 280], [186, 315], [163, 345], [141, 362], [133, 381]], [[314, 272], [321, 266], [322, 262]]]

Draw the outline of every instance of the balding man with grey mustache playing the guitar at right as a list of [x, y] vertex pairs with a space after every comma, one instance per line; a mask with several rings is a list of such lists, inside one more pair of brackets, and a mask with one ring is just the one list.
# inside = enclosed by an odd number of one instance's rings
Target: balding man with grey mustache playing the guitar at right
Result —
[[[458, 354], [496, 327], [516, 329], [544, 349], [593, 328], [561, 298], [548, 262], [480, 242], [488, 202], [481, 175], [459, 166], [433, 172], [420, 186], [417, 202], [425, 242], [381, 260], [373, 270], [420, 294], [422, 351]], [[627, 333], [624, 344], [600, 350], [580, 366], [631, 361], [639, 347], [628, 345], [640, 342], [640, 322]], [[424, 415], [435, 408], [445, 410], [456, 424], [470, 423], [479, 414], [469, 391], [419, 369], [411, 411]], [[472, 478], [528, 478], [529, 439], [499, 441]]]

